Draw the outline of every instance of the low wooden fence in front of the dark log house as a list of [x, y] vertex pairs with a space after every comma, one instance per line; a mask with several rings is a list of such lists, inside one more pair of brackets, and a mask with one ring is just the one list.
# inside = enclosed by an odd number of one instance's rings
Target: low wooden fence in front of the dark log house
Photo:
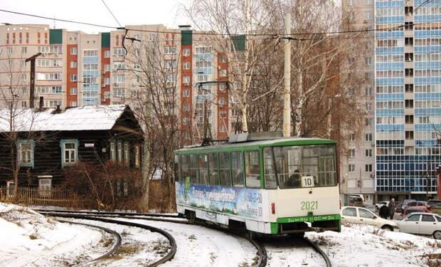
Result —
[[0, 187], [0, 201], [13, 202], [16, 204], [41, 205], [41, 206], [83, 206], [84, 200], [80, 200], [71, 189], [41, 190], [34, 187], [18, 187], [14, 196], [14, 190]]

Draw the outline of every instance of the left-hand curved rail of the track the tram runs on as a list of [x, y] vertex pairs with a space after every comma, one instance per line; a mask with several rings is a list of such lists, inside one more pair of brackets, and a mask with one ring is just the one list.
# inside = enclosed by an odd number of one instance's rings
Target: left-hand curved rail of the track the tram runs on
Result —
[[[46, 212], [42, 212], [40, 211], [42, 214], [46, 214]], [[58, 213], [59, 212], [59, 213]], [[69, 214], [65, 214], [64, 211], [58, 211], [57, 213], [53, 213], [55, 215], [51, 215], [51, 216], [58, 216], [56, 214], [60, 214], [62, 216], [71, 216], [70, 214], [72, 214], [73, 212], [70, 212]], [[100, 216], [100, 217], [109, 217], [111, 216], [110, 214], [115, 214], [112, 212], [108, 212], [107, 214], [95, 214], [92, 216]], [[111, 216], [114, 217], [114, 216]], [[177, 220], [172, 220], [172, 219], [160, 219], [160, 218], [147, 218], [149, 217], [149, 215], [144, 215], [144, 216], [122, 216], [123, 219], [142, 219], [142, 220], [147, 220], [147, 221], [165, 221], [165, 222], [171, 222], [174, 224], [186, 224], [186, 225], [196, 225], [196, 226], [203, 226], [206, 228], [210, 228], [210, 229], [215, 229], [217, 231], [223, 231], [227, 234], [234, 234], [232, 233], [232, 231], [227, 231], [227, 229], [221, 228], [219, 226], [215, 226], [215, 225], [210, 225], [210, 224], [204, 224], [198, 221], [195, 222], [191, 222], [191, 221], [177, 221]], [[176, 218], [184, 218], [182, 216], [174, 216]], [[243, 234], [235, 234], [236, 236], [240, 236], [243, 237], [244, 239], [247, 239], [251, 244], [253, 244], [253, 246], [257, 249], [257, 256], [259, 257], [259, 260], [256, 263], [257, 267], [265, 267], [267, 265], [267, 251], [265, 249], [265, 246], [263, 246], [262, 244], [258, 243], [257, 241], [250, 239], [248, 236], [243, 235]]]

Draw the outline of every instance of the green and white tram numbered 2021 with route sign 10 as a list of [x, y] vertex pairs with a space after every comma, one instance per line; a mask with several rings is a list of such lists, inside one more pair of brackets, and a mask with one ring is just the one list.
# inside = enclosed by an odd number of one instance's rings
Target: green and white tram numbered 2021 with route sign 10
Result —
[[336, 142], [257, 139], [176, 150], [179, 214], [262, 234], [340, 231]]

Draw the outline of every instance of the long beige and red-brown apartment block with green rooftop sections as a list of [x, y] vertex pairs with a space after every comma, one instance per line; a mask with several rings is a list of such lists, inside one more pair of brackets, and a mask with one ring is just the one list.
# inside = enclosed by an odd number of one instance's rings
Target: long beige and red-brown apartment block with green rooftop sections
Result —
[[0, 105], [14, 102], [19, 108], [29, 107], [30, 66], [25, 60], [38, 52], [42, 55], [36, 59], [36, 107], [40, 97], [44, 107], [136, 105], [133, 100], [145, 88], [142, 75], [137, 75], [145, 71], [139, 58], [152, 57], [151, 51], [156, 51], [161, 58], [158, 69], [170, 70], [166, 94], [171, 98], [164, 99], [176, 104], [164, 105], [176, 109], [184, 143], [201, 135], [206, 106], [213, 137], [227, 137], [233, 116], [227, 83], [223, 83], [228, 80], [228, 62], [213, 38], [189, 27], [126, 28], [127, 33], [88, 34], [48, 25], [0, 26]]

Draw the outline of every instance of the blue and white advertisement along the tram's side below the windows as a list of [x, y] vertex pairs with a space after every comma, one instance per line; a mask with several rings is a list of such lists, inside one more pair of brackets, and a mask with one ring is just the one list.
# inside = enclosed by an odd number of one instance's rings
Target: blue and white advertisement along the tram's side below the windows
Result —
[[181, 205], [255, 219], [267, 215], [262, 211], [265, 199], [262, 199], [264, 196], [260, 189], [182, 182], [176, 184], [176, 197]]

